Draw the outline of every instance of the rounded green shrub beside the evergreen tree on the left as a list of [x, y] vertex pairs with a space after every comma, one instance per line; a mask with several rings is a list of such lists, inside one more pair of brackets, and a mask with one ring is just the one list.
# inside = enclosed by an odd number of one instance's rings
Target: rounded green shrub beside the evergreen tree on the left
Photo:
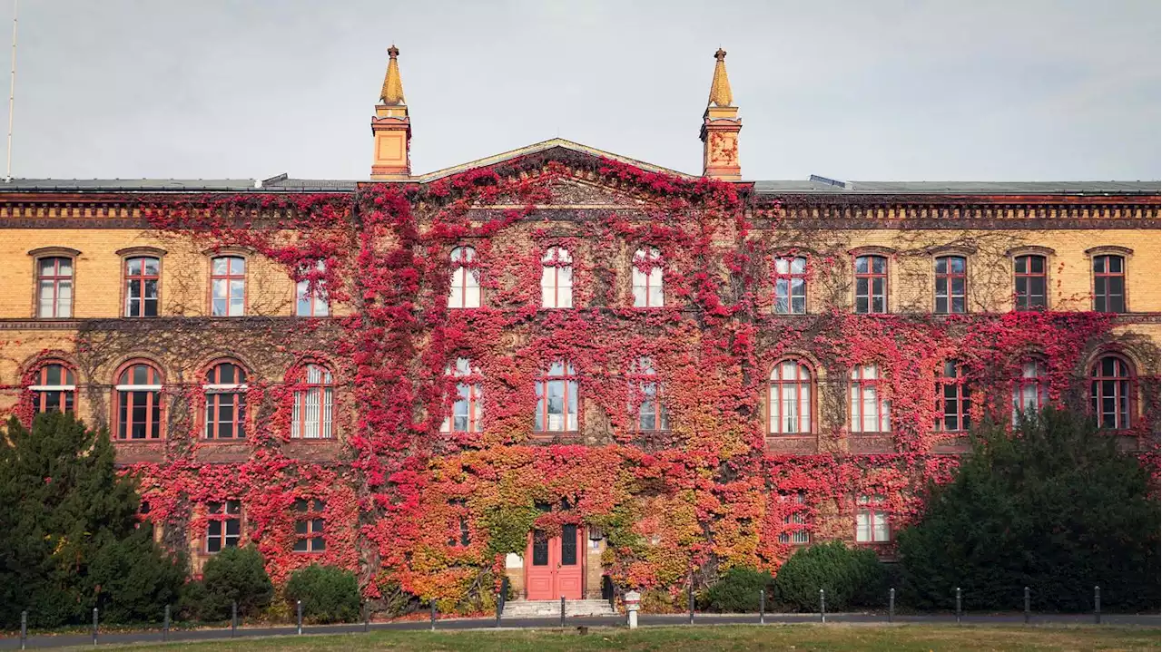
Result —
[[224, 621], [238, 602], [238, 616], [254, 616], [270, 606], [274, 585], [266, 574], [261, 553], [253, 548], [227, 548], [206, 563], [201, 581], [186, 585], [181, 607], [185, 617]]

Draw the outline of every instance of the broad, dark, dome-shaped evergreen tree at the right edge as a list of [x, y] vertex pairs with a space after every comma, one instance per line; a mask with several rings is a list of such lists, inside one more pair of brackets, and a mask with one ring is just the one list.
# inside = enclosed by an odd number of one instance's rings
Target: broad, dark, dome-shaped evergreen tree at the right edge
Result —
[[904, 597], [948, 609], [1139, 609], [1162, 604], [1162, 502], [1116, 437], [1049, 408], [1016, 432], [985, 426], [954, 480], [930, 488], [899, 535]]

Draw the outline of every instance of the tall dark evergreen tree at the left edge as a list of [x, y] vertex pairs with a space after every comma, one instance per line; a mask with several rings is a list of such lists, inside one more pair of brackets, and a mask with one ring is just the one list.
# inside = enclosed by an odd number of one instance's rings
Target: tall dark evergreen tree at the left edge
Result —
[[164, 608], [184, 565], [138, 530], [137, 508], [108, 434], [58, 412], [31, 429], [10, 419], [0, 435], [0, 624], [19, 624], [22, 609], [30, 625], [57, 626], [86, 622], [94, 607], [146, 617], [123, 600]]

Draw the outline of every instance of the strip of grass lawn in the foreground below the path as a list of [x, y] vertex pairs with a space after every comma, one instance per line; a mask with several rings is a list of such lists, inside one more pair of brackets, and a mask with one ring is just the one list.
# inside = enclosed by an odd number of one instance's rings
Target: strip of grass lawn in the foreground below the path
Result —
[[576, 630], [418, 632], [277, 637], [135, 650], [417, 650], [425, 652], [583, 652], [587, 650], [1156, 650], [1162, 630], [1118, 626], [717, 625], [651, 626], [637, 631]]

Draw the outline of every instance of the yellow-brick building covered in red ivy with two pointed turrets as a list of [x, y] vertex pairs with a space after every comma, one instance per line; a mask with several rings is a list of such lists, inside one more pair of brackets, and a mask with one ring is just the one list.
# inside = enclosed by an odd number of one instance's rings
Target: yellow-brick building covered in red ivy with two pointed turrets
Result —
[[561, 139], [368, 181], [0, 187], [3, 407], [106, 428], [193, 571], [358, 572], [385, 609], [681, 593], [892, 555], [983, 419], [1088, 410], [1162, 468], [1162, 183], [746, 181]]

